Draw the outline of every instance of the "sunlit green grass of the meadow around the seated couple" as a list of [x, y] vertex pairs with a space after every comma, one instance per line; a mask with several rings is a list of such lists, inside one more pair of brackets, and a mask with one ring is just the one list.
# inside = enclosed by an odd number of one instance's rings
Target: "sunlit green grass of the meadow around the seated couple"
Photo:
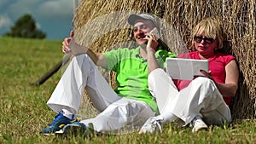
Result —
[[38, 135], [55, 117], [46, 106], [61, 71], [32, 86], [62, 58], [61, 41], [0, 37], [0, 143], [256, 143], [256, 120], [236, 120], [193, 134], [189, 128], [164, 127], [162, 134], [84, 137]]

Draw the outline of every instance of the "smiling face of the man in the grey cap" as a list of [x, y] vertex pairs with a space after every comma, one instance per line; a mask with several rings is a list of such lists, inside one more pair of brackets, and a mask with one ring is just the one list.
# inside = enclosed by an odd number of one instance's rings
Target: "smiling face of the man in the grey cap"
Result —
[[146, 33], [154, 28], [154, 24], [150, 20], [136, 20], [133, 26], [133, 36], [138, 44], [147, 44], [148, 40], [144, 39]]

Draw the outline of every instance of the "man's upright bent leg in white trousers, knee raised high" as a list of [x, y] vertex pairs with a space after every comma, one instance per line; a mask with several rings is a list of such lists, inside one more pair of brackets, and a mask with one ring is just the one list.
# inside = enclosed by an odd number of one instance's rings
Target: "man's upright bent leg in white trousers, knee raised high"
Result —
[[89, 56], [77, 55], [67, 66], [47, 105], [55, 112], [65, 108], [76, 114], [85, 86], [90, 95], [90, 101], [100, 112], [120, 99]]

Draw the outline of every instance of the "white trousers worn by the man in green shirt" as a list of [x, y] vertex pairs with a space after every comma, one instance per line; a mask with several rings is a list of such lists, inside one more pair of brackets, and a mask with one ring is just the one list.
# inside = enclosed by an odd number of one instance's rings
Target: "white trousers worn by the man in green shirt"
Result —
[[98, 132], [115, 132], [125, 126], [139, 129], [155, 114], [145, 102], [117, 95], [88, 55], [77, 55], [71, 60], [47, 105], [55, 112], [67, 109], [77, 114], [84, 88], [101, 113], [81, 122], [92, 124]]

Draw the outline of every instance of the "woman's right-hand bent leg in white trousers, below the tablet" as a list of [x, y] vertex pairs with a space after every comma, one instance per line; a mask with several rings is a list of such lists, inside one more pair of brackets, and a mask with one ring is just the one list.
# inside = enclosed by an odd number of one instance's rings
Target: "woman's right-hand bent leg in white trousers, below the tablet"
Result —
[[225, 104], [214, 82], [209, 78], [195, 78], [178, 94], [172, 113], [189, 124], [195, 116], [201, 116], [207, 124], [230, 122], [230, 109]]

